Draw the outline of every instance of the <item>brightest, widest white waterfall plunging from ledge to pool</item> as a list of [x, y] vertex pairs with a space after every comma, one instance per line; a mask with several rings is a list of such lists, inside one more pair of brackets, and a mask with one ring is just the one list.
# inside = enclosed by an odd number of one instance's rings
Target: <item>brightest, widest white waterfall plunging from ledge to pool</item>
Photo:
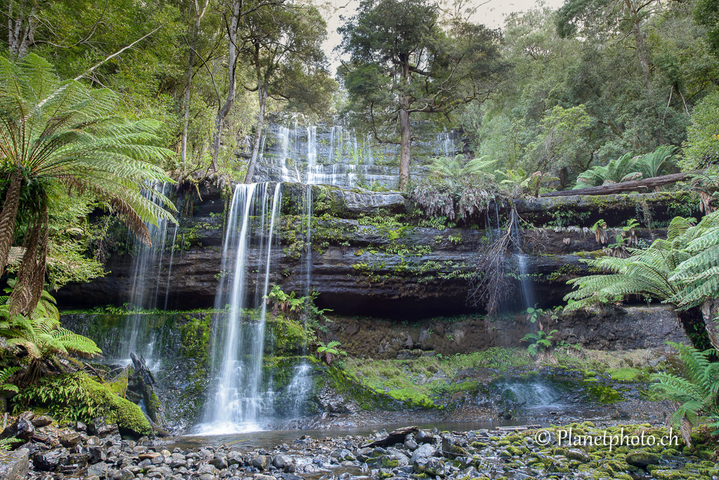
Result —
[[[217, 435], [262, 429], [272, 410], [273, 392], [262, 389], [262, 354], [265, 343], [267, 295], [272, 263], [273, 236], [280, 209], [280, 183], [275, 184], [270, 203], [270, 183], [239, 184], [235, 187], [222, 249], [222, 277], [215, 297], [218, 310], [229, 305], [224, 325], [216, 326], [212, 364], [216, 392], [206, 404], [199, 434]], [[267, 204], [270, 203], [269, 216]], [[265, 229], [269, 217], [269, 226]], [[260, 241], [260, 269], [252, 318], [247, 308], [249, 249]], [[264, 278], [262, 278], [264, 277]], [[261, 290], [260, 290], [261, 289]], [[258, 300], [259, 297], [259, 300]]]

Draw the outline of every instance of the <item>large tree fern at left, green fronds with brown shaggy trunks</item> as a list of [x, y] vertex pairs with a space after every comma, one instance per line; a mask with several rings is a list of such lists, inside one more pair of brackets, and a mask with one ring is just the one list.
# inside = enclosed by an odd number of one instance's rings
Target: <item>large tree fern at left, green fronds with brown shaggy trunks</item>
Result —
[[151, 183], [171, 182], [161, 167], [173, 155], [152, 144], [159, 122], [132, 121], [117, 113], [117, 96], [75, 80], [60, 80], [46, 60], [29, 54], [17, 63], [0, 57], [0, 262], [4, 271], [24, 221], [24, 253], [10, 313], [35, 309], [45, 285], [48, 234], [47, 189], [60, 183], [91, 192], [127, 223], [145, 243], [145, 222], [174, 221], [170, 200], [145, 196]]

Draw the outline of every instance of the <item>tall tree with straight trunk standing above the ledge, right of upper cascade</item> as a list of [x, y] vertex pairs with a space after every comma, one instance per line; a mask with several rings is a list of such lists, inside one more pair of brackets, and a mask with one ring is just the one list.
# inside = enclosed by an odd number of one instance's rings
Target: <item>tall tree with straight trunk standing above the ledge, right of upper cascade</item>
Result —
[[349, 108], [375, 141], [400, 145], [400, 188], [411, 159], [411, 114], [449, 115], [492, 92], [503, 73], [499, 33], [453, 19], [431, 0], [362, 0], [338, 29]]

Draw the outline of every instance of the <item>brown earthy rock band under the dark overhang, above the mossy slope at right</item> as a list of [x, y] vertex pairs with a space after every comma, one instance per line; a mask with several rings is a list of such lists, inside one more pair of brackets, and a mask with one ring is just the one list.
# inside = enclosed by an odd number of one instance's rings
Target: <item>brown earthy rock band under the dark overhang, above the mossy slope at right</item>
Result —
[[[656, 349], [664, 348], [667, 341], [689, 341], [677, 314], [661, 305], [558, 315], [556, 320], [546, 315], [540, 321], [546, 331], [558, 331], [554, 335], [557, 341], [579, 343], [585, 349]], [[519, 345], [531, 332], [524, 315], [493, 322], [472, 317], [451, 323], [425, 320], [405, 326], [376, 318], [335, 318], [327, 328], [328, 341], [341, 341], [349, 355], [379, 359], [410, 359], [426, 351], [466, 354], [493, 346]]]

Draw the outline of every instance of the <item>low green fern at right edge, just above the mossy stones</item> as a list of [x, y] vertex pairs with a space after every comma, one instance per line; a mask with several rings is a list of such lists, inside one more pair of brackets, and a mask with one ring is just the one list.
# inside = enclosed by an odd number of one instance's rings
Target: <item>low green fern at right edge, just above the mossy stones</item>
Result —
[[719, 363], [710, 361], [710, 357], [716, 356], [717, 352], [698, 351], [679, 343], [668, 344], [679, 351], [684, 374], [654, 374], [652, 379], [658, 383], [653, 384], [651, 390], [665, 400], [682, 403], [672, 414], [672, 423], [677, 430], [684, 418], [691, 425], [697, 425], [700, 415], [707, 415], [710, 426], [719, 429]]

